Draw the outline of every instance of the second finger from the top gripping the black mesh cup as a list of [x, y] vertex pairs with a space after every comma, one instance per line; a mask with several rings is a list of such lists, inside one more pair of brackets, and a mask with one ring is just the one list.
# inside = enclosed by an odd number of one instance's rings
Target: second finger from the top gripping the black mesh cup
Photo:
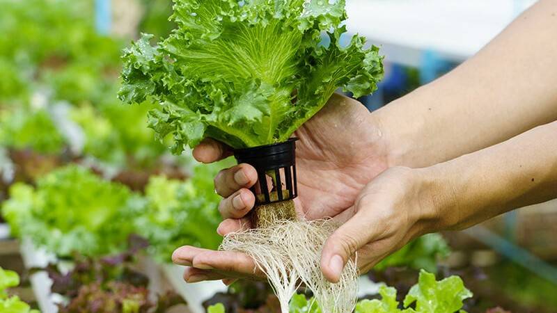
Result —
[[250, 188], [257, 182], [257, 171], [253, 166], [242, 163], [226, 170], [221, 170], [214, 177], [214, 189], [222, 197], [228, 197], [241, 188]]

